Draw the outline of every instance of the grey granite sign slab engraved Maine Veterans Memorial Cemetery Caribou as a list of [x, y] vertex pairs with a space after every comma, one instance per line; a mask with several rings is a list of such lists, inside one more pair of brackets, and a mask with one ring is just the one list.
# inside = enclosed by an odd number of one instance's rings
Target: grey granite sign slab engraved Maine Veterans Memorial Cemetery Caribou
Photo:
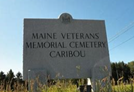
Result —
[[100, 67], [111, 71], [103, 20], [73, 19], [67, 13], [59, 19], [24, 19], [24, 79], [31, 74], [100, 79], [106, 76]]

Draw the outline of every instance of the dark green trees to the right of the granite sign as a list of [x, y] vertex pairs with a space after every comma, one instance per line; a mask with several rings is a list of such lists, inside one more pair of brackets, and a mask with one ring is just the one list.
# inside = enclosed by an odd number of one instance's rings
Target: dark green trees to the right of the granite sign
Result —
[[134, 78], [134, 61], [129, 63], [113, 62], [111, 63], [112, 78], [115, 80], [115, 84], [122, 80], [123, 82], [130, 82], [130, 78]]

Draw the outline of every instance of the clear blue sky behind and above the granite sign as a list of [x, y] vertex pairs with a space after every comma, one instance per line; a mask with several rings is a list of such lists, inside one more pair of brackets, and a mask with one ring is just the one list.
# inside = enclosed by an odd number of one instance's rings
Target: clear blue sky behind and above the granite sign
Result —
[[134, 60], [133, 0], [0, 0], [0, 71], [23, 70], [24, 18], [56, 19], [64, 12], [75, 19], [105, 20], [110, 60]]

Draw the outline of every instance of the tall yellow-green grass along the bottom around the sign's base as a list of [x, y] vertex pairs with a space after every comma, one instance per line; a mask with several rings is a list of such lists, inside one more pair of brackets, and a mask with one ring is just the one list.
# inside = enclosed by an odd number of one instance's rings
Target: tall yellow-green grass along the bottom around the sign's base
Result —
[[[37, 90], [40, 92], [80, 92], [77, 89], [77, 86], [72, 83], [71, 80], [55, 80], [55, 85], [42, 85], [38, 82]], [[102, 87], [102, 81], [96, 82], [96, 91], [94, 92], [110, 92], [109, 83]], [[27, 83], [27, 82], [26, 82]], [[0, 84], [0, 92], [33, 92], [34, 81], [31, 81], [30, 90], [27, 90], [27, 87], [21, 84], [14, 84], [14, 91], [10, 89], [10, 83], [6, 84], [6, 89], [4, 90], [3, 85]], [[83, 84], [83, 80], [79, 80], [79, 84]], [[124, 84], [122, 81], [118, 82], [118, 85], [115, 85], [112, 81], [112, 92], [134, 92], [134, 80], [131, 79], [130, 84]], [[25, 84], [26, 85], [26, 84]], [[83, 84], [84, 85], [84, 84]], [[37, 92], [38, 92], [37, 91]]]

